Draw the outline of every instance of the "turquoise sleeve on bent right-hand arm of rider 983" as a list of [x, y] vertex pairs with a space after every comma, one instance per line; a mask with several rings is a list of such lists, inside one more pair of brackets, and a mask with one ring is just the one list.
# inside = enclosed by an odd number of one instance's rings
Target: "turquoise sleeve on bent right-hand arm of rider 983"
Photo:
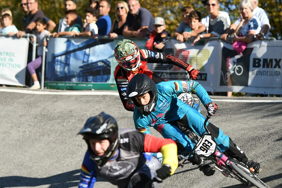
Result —
[[196, 81], [189, 81], [189, 82], [186, 82], [186, 83], [187, 83], [187, 87], [188, 87], [188, 93], [196, 94], [197, 97], [199, 97], [199, 99], [201, 100], [201, 102], [204, 106], [206, 106], [207, 103], [212, 102], [211, 98], [209, 98], [207, 91], [203, 88], [203, 86], [201, 84], [199, 84]]

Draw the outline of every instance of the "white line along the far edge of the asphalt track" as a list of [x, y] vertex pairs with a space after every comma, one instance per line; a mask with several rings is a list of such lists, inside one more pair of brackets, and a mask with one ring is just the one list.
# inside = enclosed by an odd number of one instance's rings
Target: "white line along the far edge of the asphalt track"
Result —
[[[41, 91], [41, 90], [21, 90], [1, 88], [0, 92], [25, 93], [36, 95], [115, 95], [119, 96], [117, 91]], [[238, 100], [238, 99], [212, 99], [212, 101], [237, 102], [237, 103], [282, 103], [282, 100]]]

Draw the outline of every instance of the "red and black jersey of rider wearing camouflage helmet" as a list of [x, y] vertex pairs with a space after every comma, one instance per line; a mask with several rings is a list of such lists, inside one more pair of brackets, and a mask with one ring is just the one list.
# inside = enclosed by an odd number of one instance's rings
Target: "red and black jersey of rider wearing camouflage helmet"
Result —
[[[175, 66], [178, 66], [184, 70], [189, 70], [191, 65], [184, 63], [179, 58], [176, 58], [171, 55], [167, 55], [161, 52], [155, 52], [150, 50], [139, 50], [140, 51], [140, 61], [141, 66], [138, 68], [138, 73], [143, 73], [148, 75], [155, 83], [166, 81], [160, 78], [157, 74], [154, 74], [151, 70], [148, 69], [147, 63], [168, 63]], [[124, 108], [128, 111], [134, 110], [134, 103], [129, 98], [126, 98], [126, 90], [128, 82], [134, 76], [134, 74], [127, 72], [120, 65], [117, 65], [115, 68], [115, 82], [117, 84], [117, 90], [120, 95], [120, 99]]]

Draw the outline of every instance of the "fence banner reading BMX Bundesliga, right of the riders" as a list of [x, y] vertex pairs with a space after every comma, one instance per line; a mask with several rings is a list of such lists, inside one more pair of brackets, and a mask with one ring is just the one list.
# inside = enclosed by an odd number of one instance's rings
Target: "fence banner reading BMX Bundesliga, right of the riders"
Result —
[[[255, 41], [238, 54], [231, 44], [209, 41], [191, 46], [170, 40], [164, 52], [189, 63], [200, 71], [197, 81], [207, 91], [282, 93], [282, 41]], [[149, 69], [167, 80], [187, 80], [185, 70], [176, 66], [147, 64]]]

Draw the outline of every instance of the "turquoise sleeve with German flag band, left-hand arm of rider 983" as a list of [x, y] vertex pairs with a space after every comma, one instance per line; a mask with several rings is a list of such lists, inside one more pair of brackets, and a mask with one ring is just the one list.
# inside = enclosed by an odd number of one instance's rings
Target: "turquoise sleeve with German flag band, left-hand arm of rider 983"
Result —
[[147, 119], [141, 115], [137, 108], [134, 108], [133, 121], [136, 130], [145, 134], [151, 134], [149, 129], [150, 123], [147, 122]]

